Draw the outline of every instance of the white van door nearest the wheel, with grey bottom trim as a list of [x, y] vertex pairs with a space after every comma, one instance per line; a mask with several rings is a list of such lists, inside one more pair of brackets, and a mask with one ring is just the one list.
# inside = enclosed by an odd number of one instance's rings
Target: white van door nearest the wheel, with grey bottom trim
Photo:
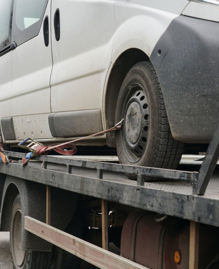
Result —
[[111, 64], [114, 3], [53, 0], [51, 109], [58, 113], [51, 121], [58, 126], [55, 136], [81, 136], [103, 129], [101, 108]]

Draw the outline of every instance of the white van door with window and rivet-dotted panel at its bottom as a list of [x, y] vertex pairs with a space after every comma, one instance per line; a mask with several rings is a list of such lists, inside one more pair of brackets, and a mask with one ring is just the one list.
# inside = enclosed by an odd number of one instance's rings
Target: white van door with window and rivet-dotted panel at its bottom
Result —
[[11, 114], [17, 140], [51, 137], [51, 0], [14, 0]]

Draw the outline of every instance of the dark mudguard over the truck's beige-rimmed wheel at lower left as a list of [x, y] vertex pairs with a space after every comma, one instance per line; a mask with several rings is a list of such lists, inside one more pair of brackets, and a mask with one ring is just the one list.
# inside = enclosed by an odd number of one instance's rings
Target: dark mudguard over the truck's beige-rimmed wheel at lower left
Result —
[[[0, 231], [10, 231], [14, 200], [20, 194], [22, 223], [20, 247], [25, 250], [49, 251], [52, 244], [24, 230], [24, 216], [46, 222], [46, 185], [7, 176], [2, 195]], [[78, 194], [51, 187], [51, 225], [64, 230], [75, 212]]]

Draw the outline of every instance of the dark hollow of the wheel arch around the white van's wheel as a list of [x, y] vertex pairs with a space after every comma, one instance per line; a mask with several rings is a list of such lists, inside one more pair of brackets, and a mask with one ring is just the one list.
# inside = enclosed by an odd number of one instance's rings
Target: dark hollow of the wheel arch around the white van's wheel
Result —
[[[130, 48], [122, 52], [116, 59], [110, 71], [105, 94], [106, 128], [115, 125], [115, 108], [121, 84], [129, 69], [141, 61], [149, 61], [148, 55], [141, 49]], [[107, 134], [107, 145], [115, 147], [115, 136]]]

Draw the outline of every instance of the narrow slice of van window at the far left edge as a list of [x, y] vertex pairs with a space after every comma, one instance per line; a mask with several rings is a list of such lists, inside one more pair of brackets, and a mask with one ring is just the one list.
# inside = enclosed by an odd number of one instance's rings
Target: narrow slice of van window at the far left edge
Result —
[[12, 0], [0, 0], [0, 49], [11, 43]]

